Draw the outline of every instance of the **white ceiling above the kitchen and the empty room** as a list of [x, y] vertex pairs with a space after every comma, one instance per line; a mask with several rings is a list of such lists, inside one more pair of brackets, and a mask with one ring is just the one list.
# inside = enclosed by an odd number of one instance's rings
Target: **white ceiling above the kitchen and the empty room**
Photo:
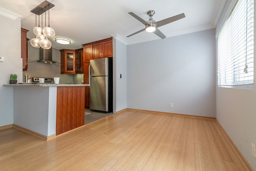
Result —
[[[1, 0], [0, 6], [22, 15], [21, 27], [30, 30], [27, 37], [35, 37], [34, 9], [44, 0]], [[126, 38], [144, 28], [144, 25], [128, 12], [134, 12], [148, 20], [146, 12], [155, 10], [154, 20], [163, 20], [185, 13], [186, 17], [160, 27], [166, 37], [215, 28], [226, 0], [48, 0], [55, 7], [50, 9], [50, 26], [56, 37], [71, 40], [61, 45], [49, 39], [56, 49], [79, 49], [81, 44], [109, 38], [118, 34], [128, 44], [160, 39], [153, 33], [141, 32]], [[44, 21], [44, 20], [43, 20]], [[47, 24], [48, 25], [48, 24]], [[44, 26], [44, 24], [43, 24]]]

